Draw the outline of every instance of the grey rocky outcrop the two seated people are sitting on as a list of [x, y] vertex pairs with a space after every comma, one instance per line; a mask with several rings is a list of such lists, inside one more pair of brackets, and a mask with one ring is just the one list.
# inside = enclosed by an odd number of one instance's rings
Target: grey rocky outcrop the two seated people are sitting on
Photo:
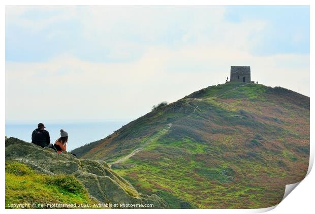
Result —
[[8, 160], [25, 163], [39, 173], [74, 175], [89, 195], [101, 203], [153, 204], [153, 208], [167, 208], [166, 202], [160, 197], [138, 193], [104, 161], [77, 159], [67, 152], [58, 154], [53, 149], [13, 137], [6, 139]]

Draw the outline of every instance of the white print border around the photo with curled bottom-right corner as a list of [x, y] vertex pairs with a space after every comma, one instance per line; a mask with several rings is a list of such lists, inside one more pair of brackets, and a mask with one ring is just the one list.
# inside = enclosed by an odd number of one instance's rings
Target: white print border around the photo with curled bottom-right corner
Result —
[[[134, 1], [126, 1], [126, 0], [117, 0], [117, 1], [99, 1], [99, 0], [89, 0], [89, 1], [83, 1], [83, 0], [69, 0], [69, 1], [61, 1], [61, 0], [55, 0], [55, 1], [45, 1], [45, 4], [43, 1], [39, 0], [30, 0], [30, 1], [2, 1], [1, 5], [1, 62], [2, 62], [2, 72], [1, 72], [1, 100], [5, 101], [5, 5], [310, 5], [310, 58], [314, 56], [314, 43], [313, 43], [313, 38], [314, 38], [314, 3], [313, 1], [310, 0], [300, 0], [300, 1], [280, 1], [280, 0], [257, 0], [257, 1], [236, 1], [236, 0], [227, 0], [227, 1], [201, 1], [201, 0], [195, 0], [195, 1], [189, 1], [189, 0], [182, 0], [182, 1], [171, 1], [171, 0], [160, 0], [160, 1], [148, 1], [148, 0], [134, 0]], [[314, 74], [312, 73], [313, 71], [314, 64], [310, 62], [310, 80], [314, 80]], [[312, 95], [314, 92], [314, 86], [310, 84], [310, 95]], [[310, 96], [311, 97], [311, 96]], [[312, 114], [312, 107], [313, 107], [313, 101], [310, 99], [310, 107], [311, 107], [311, 114], [310, 114], [310, 121], [313, 121], [313, 114]], [[3, 123], [1, 124], [1, 129], [0, 133], [4, 137], [5, 136], [5, 105], [4, 102], [1, 107], [1, 119]], [[314, 126], [312, 123], [310, 123], [310, 130], [314, 130]], [[0, 136], [1, 136], [0, 135]], [[310, 210], [314, 210], [314, 203], [313, 203], [313, 191], [314, 191], [314, 182], [315, 176], [314, 173], [310, 171], [311, 166], [313, 164], [313, 157], [314, 157], [314, 148], [313, 148], [313, 132], [310, 133], [310, 144], [311, 144], [311, 154], [310, 154], [310, 167], [308, 170], [308, 176], [301, 181], [301, 183], [298, 185], [299, 187], [293, 191], [293, 193], [289, 194], [288, 197], [285, 198], [275, 209], [270, 211], [271, 213], [309, 213]], [[4, 166], [5, 164], [5, 152], [4, 152], [4, 141], [2, 141], [2, 148], [1, 149], [1, 164]], [[2, 196], [5, 195], [5, 176], [4, 176], [4, 167], [1, 168], [1, 193]], [[0, 208], [4, 209], [5, 207], [5, 197], [0, 197]], [[272, 207], [274, 208], [274, 207]], [[6, 212], [41, 212], [42, 210], [8, 210], [4, 209]], [[45, 210], [45, 212], [60, 212], [61, 210]], [[67, 210], [67, 212], [85, 212], [90, 210]], [[137, 213], [144, 213], [144, 212], [153, 212], [157, 213], [162, 210], [93, 210], [93, 212], [112, 212], [112, 213], [121, 213], [121, 212], [137, 212]], [[203, 212], [203, 213], [255, 213], [255, 212], [261, 212], [264, 211], [263, 209], [198, 209], [198, 210], [163, 210], [163, 212], [183, 212], [183, 213], [191, 213], [192, 211], [197, 211], [197, 212]], [[267, 211], [267, 209], [265, 210]]]

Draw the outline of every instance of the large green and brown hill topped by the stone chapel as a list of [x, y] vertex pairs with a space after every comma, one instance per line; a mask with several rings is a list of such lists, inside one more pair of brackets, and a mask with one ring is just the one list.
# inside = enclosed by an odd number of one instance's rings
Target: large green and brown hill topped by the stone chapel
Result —
[[269, 207], [307, 172], [309, 97], [262, 84], [209, 86], [73, 152], [112, 163], [172, 208]]

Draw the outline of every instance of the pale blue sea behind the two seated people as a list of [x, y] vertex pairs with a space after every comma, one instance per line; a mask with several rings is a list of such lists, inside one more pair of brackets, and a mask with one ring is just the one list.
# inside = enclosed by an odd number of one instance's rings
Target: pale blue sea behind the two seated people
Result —
[[54, 143], [60, 137], [60, 129], [68, 132], [67, 150], [73, 150], [86, 143], [107, 137], [114, 131], [128, 124], [131, 119], [97, 120], [97, 121], [6, 121], [6, 136], [15, 137], [31, 142], [31, 133], [38, 123], [44, 123], [50, 134], [50, 141]]

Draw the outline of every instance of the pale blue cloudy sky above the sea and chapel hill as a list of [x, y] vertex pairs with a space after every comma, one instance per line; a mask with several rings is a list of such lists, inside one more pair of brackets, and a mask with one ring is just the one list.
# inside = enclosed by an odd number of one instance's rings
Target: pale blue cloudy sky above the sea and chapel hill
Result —
[[6, 6], [6, 120], [136, 119], [251, 80], [309, 96], [309, 6]]

